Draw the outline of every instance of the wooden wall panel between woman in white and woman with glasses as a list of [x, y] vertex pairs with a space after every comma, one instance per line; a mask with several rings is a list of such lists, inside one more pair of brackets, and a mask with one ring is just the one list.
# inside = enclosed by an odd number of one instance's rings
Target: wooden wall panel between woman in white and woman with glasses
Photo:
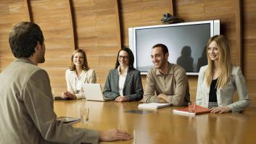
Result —
[[104, 85], [115, 67], [120, 49], [120, 25], [116, 0], [73, 1], [78, 48], [86, 51], [88, 65]]

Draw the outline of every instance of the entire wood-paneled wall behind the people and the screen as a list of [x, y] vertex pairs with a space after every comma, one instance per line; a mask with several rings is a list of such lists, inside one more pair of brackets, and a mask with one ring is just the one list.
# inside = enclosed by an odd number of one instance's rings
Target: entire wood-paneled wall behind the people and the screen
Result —
[[[232, 61], [243, 67], [255, 104], [255, 9], [254, 0], [3, 0], [0, 71], [14, 59], [9, 50], [9, 30], [15, 23], [30, 21], [31, 17], [41, 26], [46, 39], [46, 63], [40, 67], [49, 72], [51, 86], [57, 93], [66, 89], [65, 69], [70, 66], [75, 48], [86, 51], [88, 64], [96, 70], [97, 82], [103, 86], [109, 70], [115, 66], [117, 51], [121, 46], [128, 47], [128, 27], [160, 25], [162, 14], [173, 12], [185, 22], [220, 19], [220, 33], [231, 41]], [[145, 76], [142, 77], [144, 84]], [[189, 76], [189, 85], [194, 100], [196, 76]]]

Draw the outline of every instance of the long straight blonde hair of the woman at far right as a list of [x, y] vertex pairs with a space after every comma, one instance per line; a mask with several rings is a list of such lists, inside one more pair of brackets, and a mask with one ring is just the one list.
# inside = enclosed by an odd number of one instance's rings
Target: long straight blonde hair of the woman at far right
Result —
[[[224, 85], [229, 80], [229, 76], [231, 75], [232, 71], [232, 64], [231, 64], [231, 49], [230, 44], [228, 43], [228, 39], [224, 35], [215, 35], [212, 36], [212, 38], [209, 39], [207, 43], [207, 48], [209, 47], [210, 43], [212, 41], [215, 41], [215, 43], [218, 46], [218, 67], [220, 67], [220, 75], [218, 77], [217, 81], [217, 88], [223, 88]], [[210, 56], [207, 51], [207, 59], [208, 59], [208, 67], [205, 72], [205, 82], [210, 87], [210, 84], [212, 82], [212, 77], [214, 73], [214, 64], [213, 61], [210, 59]]]

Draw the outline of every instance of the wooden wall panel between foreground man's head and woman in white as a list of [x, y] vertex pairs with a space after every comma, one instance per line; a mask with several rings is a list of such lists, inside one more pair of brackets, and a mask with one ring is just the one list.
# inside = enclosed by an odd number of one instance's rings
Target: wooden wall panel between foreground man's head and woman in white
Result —
[[30, 1], [33, 22], [40, 25], [46, 45], [46, 69], [55, 93], [66, 89], [65, 69], [70, 66], [74, 51], [72, 17], [68, 0]]

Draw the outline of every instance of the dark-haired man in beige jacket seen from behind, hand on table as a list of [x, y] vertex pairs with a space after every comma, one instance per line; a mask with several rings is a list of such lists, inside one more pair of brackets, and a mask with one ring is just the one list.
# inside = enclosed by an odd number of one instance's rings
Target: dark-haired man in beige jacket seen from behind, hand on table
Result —
[[112, 129], [102, 132], [73, 128], [57, 121], [49, 76], [44, 63], [44, 35], [38, 25], [20, 22], [9, 34], [17, 58], [0, 74], [0, 143], [99, 143], [129, 140]]

